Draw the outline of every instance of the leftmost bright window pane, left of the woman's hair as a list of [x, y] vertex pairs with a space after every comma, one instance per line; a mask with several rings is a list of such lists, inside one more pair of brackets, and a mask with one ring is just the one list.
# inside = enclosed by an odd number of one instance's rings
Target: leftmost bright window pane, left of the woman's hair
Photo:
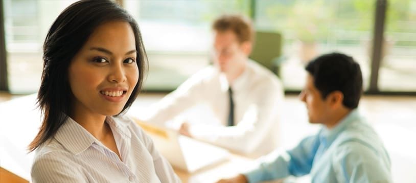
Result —
[[35, 93], [42, 73], [42, 44], [52, 22], [75, 1], [4, 0], [11, 93]]

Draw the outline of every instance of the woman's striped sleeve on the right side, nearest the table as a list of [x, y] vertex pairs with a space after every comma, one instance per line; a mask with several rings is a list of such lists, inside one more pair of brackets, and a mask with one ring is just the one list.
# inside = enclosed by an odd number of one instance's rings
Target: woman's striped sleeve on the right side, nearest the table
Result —
[[141, 139], [143, 139], [149, 153], [152, 155], [156, 175], [160, 182], [181, 182], [169, 162], [156, 150], [150, 136], [148, 136], [142, 129], [140, 129], [140, 133], [142, 136]]

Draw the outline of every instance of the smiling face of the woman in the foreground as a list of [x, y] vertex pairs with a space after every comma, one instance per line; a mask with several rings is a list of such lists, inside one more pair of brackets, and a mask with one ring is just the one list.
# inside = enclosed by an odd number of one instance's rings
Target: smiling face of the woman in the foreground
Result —
[[73, 113], [120, 113], [138, 80], [136, 44], [128, 22], [97, 27], [72, 59], [68, 79]]

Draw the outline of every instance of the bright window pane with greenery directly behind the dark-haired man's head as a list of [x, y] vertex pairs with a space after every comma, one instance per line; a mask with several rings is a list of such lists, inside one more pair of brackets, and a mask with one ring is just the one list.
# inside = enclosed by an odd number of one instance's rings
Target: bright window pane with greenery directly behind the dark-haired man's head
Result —
[[369, 48], [375, 1], [262, 0], [256, 5], [259, 30], [281, 32], [284, 38], [281, 79], [288, 90], [300, 90], [305, 64], [329, 52], [342, 52], [360, 63], [364, 86], [369, 82]]

